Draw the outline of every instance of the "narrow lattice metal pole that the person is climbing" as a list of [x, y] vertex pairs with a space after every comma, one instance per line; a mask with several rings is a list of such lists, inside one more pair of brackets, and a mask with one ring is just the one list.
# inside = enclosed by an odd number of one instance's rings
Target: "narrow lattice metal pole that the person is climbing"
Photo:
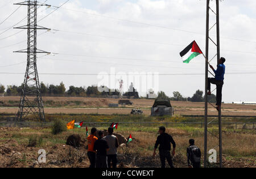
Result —
[[[207, 0], [207, 19], [206, 19], [206, 45], [205, 45], [205, 56], [206, 56], [206, 61], [205, 61], [205, 130], [204, 130], [204, 167], [207, 167], [207, 147], [208, 147], [208, 125], [212, 123], [214, 120], [210, 121], [208, 123], [208, 63], [212, 61], [215, 57], [217, 57], [217, 64], [218, 64], [218, 59], [220, 59], [220, 11], [219, 11], [219, 0], [216, 1], [216, 12], [210, 8], [210, 0]], [[209, 28], [209, 11], [212, 11], [214, 15], [216, 15], [216, 23], [212, 25], [211, 28]], [[209, 37], [209, 31], [216, 25], [216, 37], [217, 37], [217, 42], [214, 42], [213, 39]], [[213, 42], [213, 44], [217, 48], [217, 54], [209, 61], [209, 40]], [[209, 103], [210, 104], [210, 103]], [[210, 104], [212, 105], [212, 104]], [[214, 137], [216, 137], [214, 135]], [[219, 158], [220, 158], [220, 168], [222, 168], [222, 129], [221, 129], [221, 109], [218, 111], [218, 146], [214, 147], [217, 148], [219, 147]]]

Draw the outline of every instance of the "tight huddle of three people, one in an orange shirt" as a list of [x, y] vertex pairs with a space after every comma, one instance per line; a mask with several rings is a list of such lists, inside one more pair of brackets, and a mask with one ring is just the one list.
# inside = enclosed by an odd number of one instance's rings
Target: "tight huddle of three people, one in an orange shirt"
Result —
[[91, 129], [88, 136], [88, 158], [90, 168], [113, 168], [117, 167], [117, 148], [119, 147], [118, 139], [113, 135], [113, 127], [109, 127], [108, 135], [104, 137], [102, 131], [98, 131], [96, 137], [96, 128]]

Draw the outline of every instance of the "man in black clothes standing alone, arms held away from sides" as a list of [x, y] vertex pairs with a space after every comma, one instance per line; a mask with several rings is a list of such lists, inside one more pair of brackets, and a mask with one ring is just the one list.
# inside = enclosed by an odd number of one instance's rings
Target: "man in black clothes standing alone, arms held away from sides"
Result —
[[172, 150], [172, 156], [175, 155], [175, 147], [176, 143], [174, 142], [174, 139], [172, 139], [171, 135], [166, 133], [166, 127], [159, 127], [159, 136], [155, 142], [155, 150], [153, 157], [155, 157], [156, 154], [156, 148], [159, 146], [159, 155], [160, 155], [160, 160], [162, 164], [162, 168], [166, 167], [166, 159], [168, 164], [170, 165], [171, 168], [174, 168], [174, 165], [172, 164], [172, 157], [170, 154], [171, 151], [171, 143], [174, 149]]

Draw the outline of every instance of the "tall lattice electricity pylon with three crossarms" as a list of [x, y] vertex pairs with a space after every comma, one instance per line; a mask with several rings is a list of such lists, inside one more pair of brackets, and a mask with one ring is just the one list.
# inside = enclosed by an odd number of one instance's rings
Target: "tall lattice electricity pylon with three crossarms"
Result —
[[38, 3], [34, 0], [15, 3], [14, 5], [25, 5], [28, 7], [27, 25], [16, 27], [17, 29], [27, 29], [27, 49], [16, 51], [16, 53], [27, 53], [27, 67], [22, 84], [17, 121], [25, 120], [28, 114], [34, 114], [37, 120], [45, 122], [46, 118], [44, 116], [42, 94], [36, 66], [36, 54], [48, 52], [36, 48], [36, 31], [38, 29], [49, 30], [48, 28], [37, 25], [38, 6], [49, 5]]

